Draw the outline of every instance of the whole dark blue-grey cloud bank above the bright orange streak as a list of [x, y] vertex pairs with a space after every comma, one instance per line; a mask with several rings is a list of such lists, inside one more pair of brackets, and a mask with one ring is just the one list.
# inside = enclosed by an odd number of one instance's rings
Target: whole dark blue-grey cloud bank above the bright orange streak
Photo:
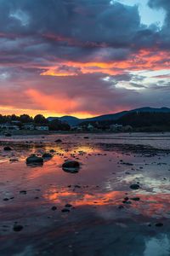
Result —
[[109, 0], [0, 0], [0, 38], [7, 62], [17, 55], [37, 63], [40, 56], [126, 60], [133, 50], [151, 47], [159, 34], [156, 26], [140, 23], [137, 6]]

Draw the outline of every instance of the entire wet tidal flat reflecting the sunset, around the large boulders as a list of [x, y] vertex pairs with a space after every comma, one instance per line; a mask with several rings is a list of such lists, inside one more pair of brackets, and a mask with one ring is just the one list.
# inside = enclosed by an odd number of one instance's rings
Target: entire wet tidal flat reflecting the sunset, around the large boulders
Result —
[[0, 137], [0, 219], [3, 256], [169, 256], [170, 133]]

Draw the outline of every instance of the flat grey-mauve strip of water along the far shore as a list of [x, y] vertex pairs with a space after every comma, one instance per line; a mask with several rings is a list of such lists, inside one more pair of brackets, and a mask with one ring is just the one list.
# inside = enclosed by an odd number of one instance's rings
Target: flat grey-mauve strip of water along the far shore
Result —
[[56, 137], [61, 137], [66, 143], [75, 143], [83, 137], [89, 137], [89, 142], [92, 143], [130, 143], [130, 144], [144, 144], [156, 148], [170, 148], [170, 132], [150, 132], [150, 133], [105, 133], [105, 134], [59, 134], [49, 136], [13, 136], [13, 137], [0, 137], [0, 141], [13, 141], [13, 142], [40, 142], [53, 143]]

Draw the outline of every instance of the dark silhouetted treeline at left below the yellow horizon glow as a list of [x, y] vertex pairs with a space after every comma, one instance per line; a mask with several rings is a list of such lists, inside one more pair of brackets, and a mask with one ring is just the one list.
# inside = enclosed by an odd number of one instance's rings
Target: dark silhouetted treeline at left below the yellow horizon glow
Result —
[[21, 114], [17, 116], [12, 115], [2, 115], [0, 114], [0, 124], [17, 124], [20, 128], [26, 124], [33, 125], [47, 125], [50, 131], [69, 131], [71, 129], [70, 125], [59, 119], [54, 119], [53, 121], [48, 121], [42, 114], [37, 114], [34, 118], [28, 114]]

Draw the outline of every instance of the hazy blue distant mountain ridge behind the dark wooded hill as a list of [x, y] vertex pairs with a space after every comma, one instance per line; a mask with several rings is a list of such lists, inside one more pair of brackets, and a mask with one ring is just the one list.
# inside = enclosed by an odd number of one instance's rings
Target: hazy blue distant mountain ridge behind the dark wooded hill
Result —
[[127, 115], [128, 113], [170, 113], [170, 108], [136, 108], [129, 111], [122, 111], [118, 113], [110, 113], [104, 114], [100, 116], [96, 116], [94, 118], [88, 119], [78, 119], [73, 116], [63, 116], [63, 117], [48, 117], [48, 121], [52, 121], [54, 119], [59, 119], [61, 121], [67, 122], [71, 126], [79, 125], [82, 122], [95, 122], [95, 121], [105, 121], [105, 120], [117, 120], [122, 118], [123, 116]]

